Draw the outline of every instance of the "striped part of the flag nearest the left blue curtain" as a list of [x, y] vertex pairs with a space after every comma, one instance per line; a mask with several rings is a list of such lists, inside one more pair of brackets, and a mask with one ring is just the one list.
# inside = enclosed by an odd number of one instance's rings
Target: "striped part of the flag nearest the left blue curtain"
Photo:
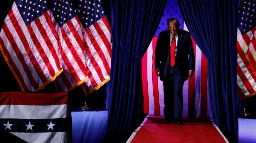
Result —
[[81, 87], [86, 94], [90, 94], [110, 79], [111, 28], [106, 16], [86, 28], [83, 38], [88, 80]]

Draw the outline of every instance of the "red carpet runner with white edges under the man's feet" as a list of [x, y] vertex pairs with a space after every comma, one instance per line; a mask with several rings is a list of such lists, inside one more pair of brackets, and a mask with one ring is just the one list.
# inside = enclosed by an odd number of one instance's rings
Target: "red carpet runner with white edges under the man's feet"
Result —
[[183, 119], [182, 125], [164, 124], [164, 116], [148, 115], [128, 143], [225, 143], [207, 119]]

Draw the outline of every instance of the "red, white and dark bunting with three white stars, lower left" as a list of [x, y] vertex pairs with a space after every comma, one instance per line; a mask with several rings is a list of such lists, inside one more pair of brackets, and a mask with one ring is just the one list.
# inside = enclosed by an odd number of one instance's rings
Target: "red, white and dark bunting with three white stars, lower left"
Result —
[[[67, 102], [66, 93], [1, 92], [1, 130], [29, 143], [72, 142], [71, 109]], [[1, 137], [2, 142], [11, 140]]]

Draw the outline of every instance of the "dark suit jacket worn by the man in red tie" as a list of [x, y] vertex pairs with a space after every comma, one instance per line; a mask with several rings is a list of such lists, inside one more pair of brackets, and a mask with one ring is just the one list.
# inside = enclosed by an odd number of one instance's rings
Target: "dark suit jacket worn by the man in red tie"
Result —
[[[170, 65], [170, 31], [160, 32], [156, 42], [155, 69], [160, 68], [160, 80], [164, 80]], [[195, 55], [190, 33], [178, 30], [175, 65], [179, 66], [183, 80], [188, 79], [188, 70], [195, 70]]]

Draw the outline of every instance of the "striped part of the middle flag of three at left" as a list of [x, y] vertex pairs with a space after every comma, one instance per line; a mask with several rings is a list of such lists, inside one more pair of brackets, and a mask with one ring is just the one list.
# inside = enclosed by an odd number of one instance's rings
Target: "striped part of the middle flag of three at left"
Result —
[[[53, 23], [55, 23], [54, 19]], [[61, 43], [61, 63], [64, 71], [55, 82], [62, 91], [69, 92], [85, 82], [86, 67], [82, 39], [82, 29], [78, 16], [68, 21], [61, 28], [56, 24], [56, 31]]]

